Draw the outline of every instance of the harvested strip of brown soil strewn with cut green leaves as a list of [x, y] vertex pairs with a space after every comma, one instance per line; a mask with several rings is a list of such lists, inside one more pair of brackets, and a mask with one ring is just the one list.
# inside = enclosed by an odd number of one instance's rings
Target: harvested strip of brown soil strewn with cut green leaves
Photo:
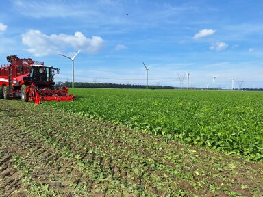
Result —
[[0, 100], [0, 196], [260, 196], [263, 164]]

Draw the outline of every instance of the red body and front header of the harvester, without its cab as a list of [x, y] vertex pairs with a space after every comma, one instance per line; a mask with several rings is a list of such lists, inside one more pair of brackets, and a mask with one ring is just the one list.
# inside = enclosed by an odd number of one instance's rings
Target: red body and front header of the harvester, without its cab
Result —
[[[10, 86], [9, 97], [21, 95], [21, 86], [27, 85], [25, 95], [28, 101], [40, 104], [41, 101], [73, 101], [73, 95], [68, 95], [66, 86], [60, 86], [54, 90], [55, 82], [49, 81], [45, 84], [34, 81], [24, 81], [23, 77], [28, 77], [32, 71], [32, 66], [43, 66], [44, 62], [36, 62], [32, 59], [20, 59], [16, 55], [7, 57], [11, 64], [0, 67], [0, 86]], [[47, 68], [47, 67], [46, 67]], [[53, 67], [49, 67], [53, 68]], [[55, 68], [57, 69], [57, 68]]]

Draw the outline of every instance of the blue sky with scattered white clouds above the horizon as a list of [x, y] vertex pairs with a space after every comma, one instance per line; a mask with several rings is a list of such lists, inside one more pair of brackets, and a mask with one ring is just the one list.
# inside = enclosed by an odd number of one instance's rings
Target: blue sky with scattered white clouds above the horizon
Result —
[[[263, 87], [263, 1], [1, 1], [0, 62], [31, 57], [55, 81]], [[186, 80], [184, 80], [186, 86]]]

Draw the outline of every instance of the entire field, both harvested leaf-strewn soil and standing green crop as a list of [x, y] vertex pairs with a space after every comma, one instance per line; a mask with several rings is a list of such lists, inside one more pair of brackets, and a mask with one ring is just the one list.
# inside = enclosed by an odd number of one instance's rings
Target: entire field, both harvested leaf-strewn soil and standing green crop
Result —
[[262, 92], [0, 99], [0, 196], [262, 196]]

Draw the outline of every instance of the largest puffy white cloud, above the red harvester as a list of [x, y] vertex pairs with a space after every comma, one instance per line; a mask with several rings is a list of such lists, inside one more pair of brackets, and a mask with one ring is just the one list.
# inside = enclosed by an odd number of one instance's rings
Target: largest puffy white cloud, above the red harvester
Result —
[[82, 50], [84, 53], [97, 53], [103, 48], [103, 39], [99, 36], [86, 38], [82, 32], [76, 32], [74, 35], [67, 34], [43, 34], [39, 30], [29, 30], [22, 35], [23, 44], [27, 45], [29, 53], [35, 56], [45, 56], [54, 53], [60, 53], [68, 47], [75, 50]]

